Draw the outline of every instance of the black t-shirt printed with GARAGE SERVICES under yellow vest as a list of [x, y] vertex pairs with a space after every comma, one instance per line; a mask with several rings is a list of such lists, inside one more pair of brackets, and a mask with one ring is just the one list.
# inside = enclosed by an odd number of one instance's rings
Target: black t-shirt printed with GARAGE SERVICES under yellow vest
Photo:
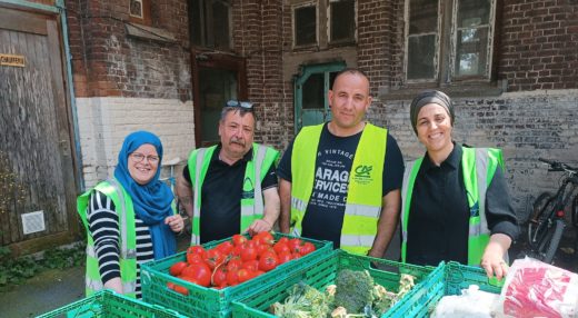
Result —
[[[349, 172], [361, 138], [361, 132], [349, 137], [337, 137], [323, 126], [319, 140], [316, 160], [313, 190], [302, 220], [303, 237], [333, 242], [340, 246], [341, 227], [349, 185]], [[291, 152], [293, 142], [289, 145], [277, 173], [291, 181]], [[403, 159], [396, 139], [387, 136], [386, 159], [383, 163], [382, 196], [401, 188], [403, 179]]]

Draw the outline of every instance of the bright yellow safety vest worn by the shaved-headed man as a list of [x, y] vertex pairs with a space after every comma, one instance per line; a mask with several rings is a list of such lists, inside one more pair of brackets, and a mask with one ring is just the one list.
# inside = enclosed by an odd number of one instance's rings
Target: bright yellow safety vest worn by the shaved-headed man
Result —
[[[293, 142], [291, 223], [295, 223], [292, 233], [296, 236], [301, 235], [301, 222], [312, 193], [317, 149], [323, 125], [303, 127]], [[343, 250], [367, 255], [373, 245], [382, 205], [386, 142], [387, 129], [366, 125], [349, 172], [340, 237], [340, 248]]]

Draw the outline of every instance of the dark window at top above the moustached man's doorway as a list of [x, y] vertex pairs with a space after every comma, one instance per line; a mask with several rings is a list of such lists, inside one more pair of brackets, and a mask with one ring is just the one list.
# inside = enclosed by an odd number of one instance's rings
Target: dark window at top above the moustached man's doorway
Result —
[[191, 42], [198, 47], [229, 50], [231, 3], [223, 0], [190, 0]]

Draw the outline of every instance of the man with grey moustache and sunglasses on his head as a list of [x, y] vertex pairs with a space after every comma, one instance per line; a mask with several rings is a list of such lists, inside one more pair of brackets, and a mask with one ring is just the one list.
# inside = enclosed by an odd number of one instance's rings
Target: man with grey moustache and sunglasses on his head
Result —
[[279, 217], [279, 152], [253, 142], [252, 103], [229, 100], [219, 136], [219, 145], [191, 152], [177, 181], [179, 200], [192, 219], [195, 245], [269, 231]]

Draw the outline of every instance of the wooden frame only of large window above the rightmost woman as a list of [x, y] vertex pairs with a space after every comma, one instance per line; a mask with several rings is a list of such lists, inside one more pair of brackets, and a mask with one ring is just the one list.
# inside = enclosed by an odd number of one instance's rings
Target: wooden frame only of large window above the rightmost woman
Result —
[[[495, 52], [497, 43], [496, 16], [498, 10], [498, 0], [490, 1], [490, 12], [488, 17], [488, 39], [486, 47], [487, 61], [484, 74], [475, 76], [457, 76], [456, 59], [458, 44], [458, 6], [459, 0], [439, 0], [438, 2], [438, 31], [436, 33], [436, 52], [434, 54], [434, 78], [429, 79], [408, 79], [409, 62], [409, 17], [410, 1], [405, 3], [405, 46], [403, 46], [403, 82], [408, 86], [415, 85], [435, 85], [436, 87], [445, 87], [468, 82], [489, 83], [495, 80]], [[446, 12], [449, 12], [446, 13]]]

